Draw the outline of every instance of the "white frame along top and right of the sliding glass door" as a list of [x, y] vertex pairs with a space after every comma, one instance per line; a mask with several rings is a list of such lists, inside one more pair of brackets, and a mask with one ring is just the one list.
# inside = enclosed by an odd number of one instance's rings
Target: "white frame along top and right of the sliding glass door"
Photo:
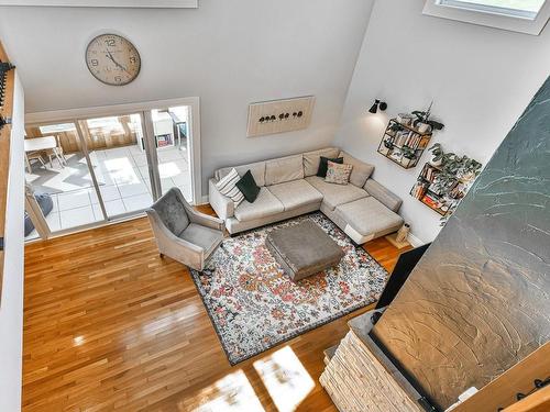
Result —
[[[33, 112], [25, 114], [25, 124], [42, 124], [68, 121], [77, 122], [78, 120], [82, 119], [124, 115], [128, 113], [136, 112], [150, 112], [154, 109], [165, 109], [168, 107], [177, 105], [188, 105], [191, 108], [191, 110], [189, 111], [189, 130], [191, 132], [191, 138], [188, 143], [190, 162], [189, 167], [191, 169], [193, 201], [195, 204], [199, 204], [201, 203], [202, 199], [202, 174], [200, 167], [200, 99], [198, 97]], [[143, 119], [143, 122], [147, 123], [147, 119]]]

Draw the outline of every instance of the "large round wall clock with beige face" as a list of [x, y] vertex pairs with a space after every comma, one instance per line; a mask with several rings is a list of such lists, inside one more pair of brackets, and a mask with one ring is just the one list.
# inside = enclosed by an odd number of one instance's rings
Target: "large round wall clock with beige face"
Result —
[[140, 54], [127, 38], [101, 34], [86, 48], [86, 64], [96, 79], [112, 86], [124, 86], [138, 77]]

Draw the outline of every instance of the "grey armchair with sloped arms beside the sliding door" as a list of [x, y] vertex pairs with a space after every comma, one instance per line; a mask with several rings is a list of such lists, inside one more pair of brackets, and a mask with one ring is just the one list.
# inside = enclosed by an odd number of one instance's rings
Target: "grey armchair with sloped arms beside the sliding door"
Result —
[[194, 269], [223, 240], [223, 221], [197, 212], [177, 188], [172, 188], [146, 211], [161, 256], [169, 256]]

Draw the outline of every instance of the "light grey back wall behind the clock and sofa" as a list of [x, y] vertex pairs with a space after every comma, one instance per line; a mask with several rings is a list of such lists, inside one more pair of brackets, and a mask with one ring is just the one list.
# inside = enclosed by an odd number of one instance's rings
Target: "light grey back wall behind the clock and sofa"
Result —
[[[20, 67], [28, 112], [200, 97], [202, 178], [217, 167], [331, 143], [373, 0], [201, 0], [195, 10], [0, 7], [0, 38]], [[139, 48], [125, 87], [88, 73], [98, 33]], [[248, 104], [315, 94], [306, 131], [246, 138]], [[202, 188], [206, 193], [207, 186]]]

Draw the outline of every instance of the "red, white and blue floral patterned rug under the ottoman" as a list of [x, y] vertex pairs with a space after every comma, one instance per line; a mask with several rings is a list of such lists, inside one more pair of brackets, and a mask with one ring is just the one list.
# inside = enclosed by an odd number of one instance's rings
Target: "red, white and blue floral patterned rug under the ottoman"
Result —
[[[266, 234], [304, 219], [345, 252], [340, 265], [293, 282], [265, 247]], [[386, 270], [322, 213], [227, 238], [208, 267], [191, 270], [231, 365], [376, 301]]]

